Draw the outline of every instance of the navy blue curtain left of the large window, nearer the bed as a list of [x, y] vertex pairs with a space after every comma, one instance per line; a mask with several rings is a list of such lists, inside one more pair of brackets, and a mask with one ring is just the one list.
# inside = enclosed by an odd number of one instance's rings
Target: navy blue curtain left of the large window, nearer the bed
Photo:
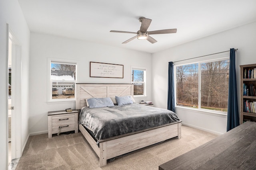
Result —
[[175, 112], [174, 103], [174, 65], [169, 62], [168, 67], [168, 98], [167, 98], [167, 109]]

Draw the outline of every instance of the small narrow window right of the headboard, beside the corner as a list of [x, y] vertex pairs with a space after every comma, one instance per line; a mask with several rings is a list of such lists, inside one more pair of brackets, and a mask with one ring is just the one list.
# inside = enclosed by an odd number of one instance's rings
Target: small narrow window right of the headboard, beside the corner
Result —
[[134, 96], [146, 96], [146, 68], [132, 68]]

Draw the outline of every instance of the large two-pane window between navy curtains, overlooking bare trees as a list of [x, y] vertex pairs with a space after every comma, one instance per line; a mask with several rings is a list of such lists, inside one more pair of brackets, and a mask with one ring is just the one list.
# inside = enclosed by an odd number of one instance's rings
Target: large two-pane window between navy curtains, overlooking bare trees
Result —
[[176, 106], [227, 112], [229, 59], [175, 68]]

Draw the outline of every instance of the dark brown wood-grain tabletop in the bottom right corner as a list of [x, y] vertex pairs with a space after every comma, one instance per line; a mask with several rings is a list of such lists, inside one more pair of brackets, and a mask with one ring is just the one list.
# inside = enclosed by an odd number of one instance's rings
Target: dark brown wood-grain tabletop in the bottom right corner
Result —
[[159, 170], [256, 169], [256, 122], [247, 121], [159, 166]]

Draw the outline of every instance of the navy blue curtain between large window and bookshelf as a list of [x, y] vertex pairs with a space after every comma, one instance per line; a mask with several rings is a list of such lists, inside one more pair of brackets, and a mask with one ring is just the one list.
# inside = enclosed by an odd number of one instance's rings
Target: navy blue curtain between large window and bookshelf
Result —
[[239, 125], [237, 90], [236, 90], [236, 53], [235, 52], [236, 52], [235, 49], [230, 49], [227, 131]]

